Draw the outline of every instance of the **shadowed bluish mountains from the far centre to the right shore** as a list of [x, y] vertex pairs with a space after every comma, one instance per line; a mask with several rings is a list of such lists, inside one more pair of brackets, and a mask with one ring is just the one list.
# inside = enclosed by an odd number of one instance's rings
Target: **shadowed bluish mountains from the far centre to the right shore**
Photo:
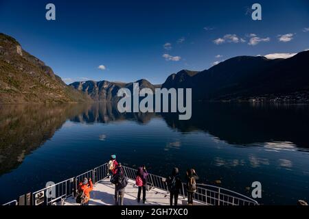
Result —
[[[194, 101], [252, 99], [256, 96], [305, 94], [309, 96], [309, 51], [288, 59], [269, 60], [263, 56], [238, 56], [203, 71], [181, 70], [159, 86], [146, 79], [135, 81], [139, 88], [192, 88]], [[132, 90], [133, 83], [78, 81], [70, 86], [95, 101], [118, 100], [119, 88]], [[303, 95], [304, 96], [304, 95]], [[302, 97], [303, 97], [302, 96]]]

